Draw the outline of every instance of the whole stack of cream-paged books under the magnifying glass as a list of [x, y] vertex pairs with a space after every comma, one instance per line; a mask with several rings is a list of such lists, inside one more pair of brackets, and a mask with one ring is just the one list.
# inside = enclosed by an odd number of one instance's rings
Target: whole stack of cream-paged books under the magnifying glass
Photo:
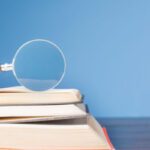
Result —
[[86, 111], [80, 91], [0, 89], [0, 148], [111, 150], [106, 129]]

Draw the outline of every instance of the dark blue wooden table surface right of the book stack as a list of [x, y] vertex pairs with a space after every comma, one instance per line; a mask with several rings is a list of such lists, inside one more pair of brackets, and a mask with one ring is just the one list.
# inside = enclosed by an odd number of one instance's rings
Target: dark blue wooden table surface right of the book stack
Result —
[[150, 150], [150, 118], [97, 118], [116, 150]]

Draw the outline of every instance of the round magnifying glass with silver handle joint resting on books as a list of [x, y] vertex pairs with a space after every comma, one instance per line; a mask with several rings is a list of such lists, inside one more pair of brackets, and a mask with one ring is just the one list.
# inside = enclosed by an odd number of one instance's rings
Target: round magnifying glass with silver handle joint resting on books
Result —
[[0, 71], [12, 71], [18, 83], [32, 91], [55, 88], [63, 79], [66, 61], [62, 50], [51, 41], [35, 39], [17, 50], [12, 64]]

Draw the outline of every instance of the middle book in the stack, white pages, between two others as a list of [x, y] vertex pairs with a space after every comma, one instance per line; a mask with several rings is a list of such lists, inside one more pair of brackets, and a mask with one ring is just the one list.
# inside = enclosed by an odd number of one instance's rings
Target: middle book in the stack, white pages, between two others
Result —
[[0, 123], [50, 121], [84, 116], [84, 104], [0, 106]]

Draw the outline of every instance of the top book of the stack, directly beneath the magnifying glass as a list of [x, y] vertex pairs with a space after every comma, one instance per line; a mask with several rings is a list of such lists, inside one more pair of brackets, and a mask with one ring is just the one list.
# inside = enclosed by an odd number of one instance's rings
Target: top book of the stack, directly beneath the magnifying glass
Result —
[[0, 88], [0, 105], [71, 104], [82, 102], [77, 89], [51, 89], [32, 92], [22, 86]]

